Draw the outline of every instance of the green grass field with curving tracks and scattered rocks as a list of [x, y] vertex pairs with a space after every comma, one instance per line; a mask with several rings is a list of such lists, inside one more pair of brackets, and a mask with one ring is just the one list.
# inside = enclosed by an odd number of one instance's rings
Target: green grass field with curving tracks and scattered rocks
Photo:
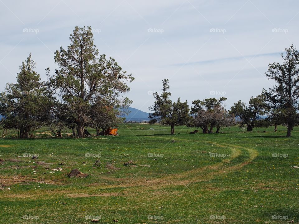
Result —
[[0, 222], [299, 222], [298, 128], [292, 138], [282, 126], [187, 131], [121, 124], [115, 137], [0, 139]]

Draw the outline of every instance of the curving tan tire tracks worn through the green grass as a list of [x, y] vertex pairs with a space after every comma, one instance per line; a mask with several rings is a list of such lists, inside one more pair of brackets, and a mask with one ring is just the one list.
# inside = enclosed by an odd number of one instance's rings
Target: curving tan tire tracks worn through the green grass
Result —
[[[164, 138], [164, 137], [159, 137], [159, 138]], [[173, 138], [164, 138], [168, 140], [172, 140]], [[175, 140], [182, 140], [182, 139], [175, 139]], [[217, 164], [212, 164], [204, 167], [200, 167], [197, 169], [193, 170], [188, 170], [184, 171], [182, 173], [178, 174], [171, 174], [167, 175], [162, 178], [158, 179], [137, 179], [137, 180], [126, 180], [126, 183], [119, 183], [119, 184], [112, 184], [112, 185], [105, 185], [105, 186], [93, 186], [94, 188], [101, 187], [103, 190], [104, 189], [117, 189], [117, 188], [124, 188], [119, 192], [119, 195], [124, 196], [124, 195], [135, 195], [140, 193], [138, 189], [141, 191], [145, 190], [155, 190], [155, 189], [161, 189], [164, 187], [169, 187], [169, 186], [175, 186], [175, 185], [189, 185], [189, 184], [194, 184], [202, 181], [208, 181], [212, 180], [215, 178], [215, 176], [219, 175], [227, 175], [227, 173], [233, 172], [235, 170], [240, 170], [242, 167], [248, 165], [251, 161], [253, 161], [257, 156], [258, 152], [257, 150], [253, 148], [244, 148], [236, 145], [231, 145], [231, 144], [220, 144], [217, 142], [211, 142], [211, 141], [198, 141], [198, 140], [188, 140], [188, 141], [194, 141], [194, 142], [199, 142], [199, 143], [209, 143], [213, 144], [218, 147], [224, 147], [224, 148], [229, 148], [231, 150], [231, 155], [230, 158], [228, 159], [223, 159], [220, 163]], [[241, 161], [237, 161], [237, 164], [235, 164], [234, 160], [237, 160], [239, 157], [244, 157], [244, 153], [242, 151], [247, 151], [248, 156], [246, 159], [242, 159]], [[113, 179], [113, 178], [112, 178]], [[119, 180], [115, 178], [115, 180]], [[121, 182], [121, 181], [120, 181]], [[93, 188], [91, 187], [91, 188]], [[134, 192], [132, 192], [132, 189], [134, 188]], [[137, 188], [137, 189], [136, 189]], [[59, 194], [59, 191], [56, 192]], [[78, 192], [72, 192], [73, 194], [76, 194]], [[64, 192], [61, 192], [61, 194], [65, 194]], [[86, 194], [86, 195], [85, 195]], [[105, 194], [103, 192], [103, 194]], [[116, 196], [116, 194], [113, 194]], [[37, 195], [35, 195], [36, 198]], [[43, 196], [45, 196], [45, 192], [43, 192]], [[78, 197], [90, 197], [88, 193], [80, 191], [80, 194], [78, 194]], [[109, 195], [107, 195], [109, 197]], [[18, 195], [13, 195], [10, 197], [18, 197]]]

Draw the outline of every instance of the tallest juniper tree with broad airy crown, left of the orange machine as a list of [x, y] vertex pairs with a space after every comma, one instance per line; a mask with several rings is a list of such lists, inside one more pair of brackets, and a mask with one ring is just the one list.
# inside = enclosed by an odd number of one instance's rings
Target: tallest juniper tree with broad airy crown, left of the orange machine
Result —
[[71, 44], [67, 49], [60, 47], [55, 52], [55, 62], [59, 65], [50, 85], [61, 97], [64, 117], [77, 125], [78, 137], [84, 138], [84, 126], [90, 120], [90, 108], [98, 97], [113, 100], [114, 105], [128, 102], [122, 93], [130, 88], [125, 81], [134, 78], [126, 75], [113, 58], [98, 57], [98, 49], [93, 44], [91, 27], [75, 27], [70, 35]]

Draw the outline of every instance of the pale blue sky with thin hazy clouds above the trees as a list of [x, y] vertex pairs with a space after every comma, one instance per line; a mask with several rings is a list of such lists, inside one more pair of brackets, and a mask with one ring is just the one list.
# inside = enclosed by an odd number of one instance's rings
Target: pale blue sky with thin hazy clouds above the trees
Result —
[[168, 78], [172, 100], [224, 96], [229, 109], [273, 86], [269, 63], [299, 48], [298, 9], [296, 0], [0, 0], [0, 91], [29, 53], [45, 81], [74, 27], [91, 26], [99, 54], [135, 77], [132, 107], [148, 112]]

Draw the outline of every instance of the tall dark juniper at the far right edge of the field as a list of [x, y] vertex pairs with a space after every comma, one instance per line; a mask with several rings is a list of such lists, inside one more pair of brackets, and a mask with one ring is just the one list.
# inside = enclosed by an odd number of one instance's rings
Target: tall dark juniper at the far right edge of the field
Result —
[[281, 63], [269, 64], [265, 75], [277, 82], [267, 92], [268, 106], [275, 111], [273, 116], [287, 126], [287, 137], [299, 124], [299, 52], [292, 44], [281, 54]]

